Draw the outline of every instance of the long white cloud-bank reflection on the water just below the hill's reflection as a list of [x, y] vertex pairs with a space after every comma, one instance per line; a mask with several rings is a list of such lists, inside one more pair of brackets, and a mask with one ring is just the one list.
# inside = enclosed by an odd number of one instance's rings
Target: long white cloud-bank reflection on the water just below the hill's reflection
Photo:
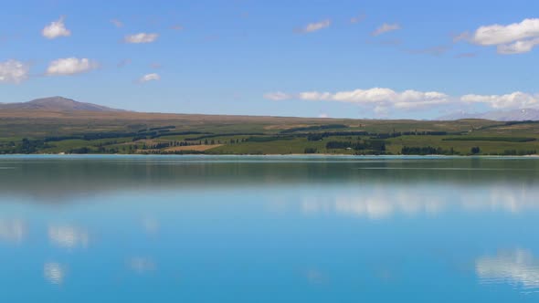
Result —
[[496, 186], [462, 191], [459, 188], [387, 188], [362, 192], [324, 193], [301, 198], [304, 213], [336, 213], [385, 218], [392, 214], [439, 214], [451, 207], [467, 211], [519, 213], [539, 210], [539, 191], [534, 188]]

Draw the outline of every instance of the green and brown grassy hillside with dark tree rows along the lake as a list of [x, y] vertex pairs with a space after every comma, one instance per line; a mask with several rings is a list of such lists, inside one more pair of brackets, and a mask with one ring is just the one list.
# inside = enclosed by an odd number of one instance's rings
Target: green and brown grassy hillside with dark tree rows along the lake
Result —
[[539, 123], [0, 111], [0, 153], [491, 154], [539, 150]]

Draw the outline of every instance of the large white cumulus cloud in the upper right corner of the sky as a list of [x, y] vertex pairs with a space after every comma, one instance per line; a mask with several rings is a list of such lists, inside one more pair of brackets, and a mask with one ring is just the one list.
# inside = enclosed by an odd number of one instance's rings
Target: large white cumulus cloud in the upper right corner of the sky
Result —
[[502, 55], [526, 53], [539, 45], [539, 18], [510, 25], [480, 26], [472, 34], [465, 32], [453, 40], [466, 40], [482, 47], [496, 46]]

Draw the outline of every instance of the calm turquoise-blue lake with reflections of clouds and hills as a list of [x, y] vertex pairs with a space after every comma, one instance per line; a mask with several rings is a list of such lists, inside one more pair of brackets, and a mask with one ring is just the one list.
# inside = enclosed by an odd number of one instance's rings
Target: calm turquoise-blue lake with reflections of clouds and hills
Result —
[[539, 160], [0, 157], [0, 302], [539, 302]]

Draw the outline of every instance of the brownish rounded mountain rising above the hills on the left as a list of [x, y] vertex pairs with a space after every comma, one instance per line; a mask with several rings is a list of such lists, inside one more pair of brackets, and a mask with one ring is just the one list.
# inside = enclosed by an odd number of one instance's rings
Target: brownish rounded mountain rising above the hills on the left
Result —
[[20, 103], [0, 103], [0, 110], [48, 110], [48, 111], [125, 111], [97, 104], [78, 102], [63, 97], [34, 99]]

